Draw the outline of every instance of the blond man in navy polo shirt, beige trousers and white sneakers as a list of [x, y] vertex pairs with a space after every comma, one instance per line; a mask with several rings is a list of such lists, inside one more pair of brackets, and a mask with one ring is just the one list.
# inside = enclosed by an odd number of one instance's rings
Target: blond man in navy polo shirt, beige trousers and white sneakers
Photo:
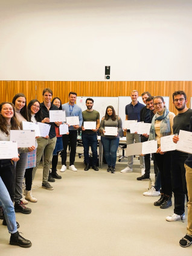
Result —
[[[130, 97], [132, 102], [126, 106], [126, 120], [137, 120], [140, 121], [140, 111], [144, 107], [143, 104], [138, 101], [138, 91], [133, 90]], [[130, 130], [124, 129], [127, 131], [127, 145], [133, 144], [134, 139], [135, 143], [141, 142], [141, 137], [137, 133], [130, 133]], [[139, 156], [141, 173], [145, 171], [144, 156]], [[133, 171], [133, 156], [128, 156], [127, 167], [121, 170], [121, 173], [129, 173]]]

